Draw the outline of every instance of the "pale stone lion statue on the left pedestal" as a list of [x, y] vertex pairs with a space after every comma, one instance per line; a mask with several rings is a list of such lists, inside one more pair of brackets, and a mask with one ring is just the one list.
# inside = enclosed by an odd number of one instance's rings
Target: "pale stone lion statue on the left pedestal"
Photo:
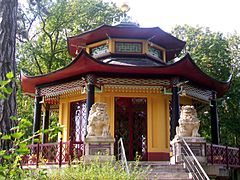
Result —
[[109, 136], [109, 128], [107, 104], [94, 103], [88, 117], [87, 136]]

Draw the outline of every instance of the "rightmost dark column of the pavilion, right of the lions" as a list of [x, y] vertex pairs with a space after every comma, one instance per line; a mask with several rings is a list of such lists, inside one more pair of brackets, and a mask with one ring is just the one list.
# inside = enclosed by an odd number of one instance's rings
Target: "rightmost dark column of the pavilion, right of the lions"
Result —
[[210, 105], [211, 112], [211, 135], [212, 135], [212, 143], [219, 144], [219, 119], [217, 112], [217, 95], [215, 91], [212, 91], [212, 100]]

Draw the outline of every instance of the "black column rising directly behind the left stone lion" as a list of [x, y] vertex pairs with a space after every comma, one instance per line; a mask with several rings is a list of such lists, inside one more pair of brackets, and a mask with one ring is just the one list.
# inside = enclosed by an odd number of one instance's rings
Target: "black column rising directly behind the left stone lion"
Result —
[[89, 112], [94, 104], [94, 76], [93, 75], [88, 75], [87, 76], [87, 109], [86, 109], [86, 119], [88, 120]]

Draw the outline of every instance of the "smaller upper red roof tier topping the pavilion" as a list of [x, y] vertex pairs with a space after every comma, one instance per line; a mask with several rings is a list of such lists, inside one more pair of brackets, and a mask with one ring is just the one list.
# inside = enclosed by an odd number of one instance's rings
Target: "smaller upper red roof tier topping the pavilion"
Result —
[[159, 27], [140, 28], [138, 26], [110, 26], [102, 25], [91, 31], [77, 36], [68, 37], [68, 51], [76, 56], [79, 47], [85, 47], [108, 38], [145, 39], [166, 49], [166, 60], [175, 58], [183, 49], [186, 42], [177, 39]]

